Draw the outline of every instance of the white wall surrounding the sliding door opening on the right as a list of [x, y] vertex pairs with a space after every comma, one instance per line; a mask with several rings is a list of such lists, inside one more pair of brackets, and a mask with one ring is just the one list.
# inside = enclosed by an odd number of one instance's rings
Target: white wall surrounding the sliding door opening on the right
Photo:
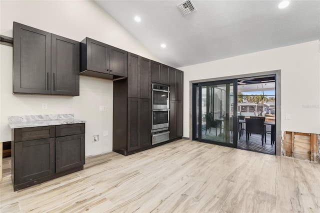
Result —
[[[184, 71], [183, 136], [189, 137], [189, 81], [281, 70], [281, 130], [320, 133], [319, 40], [179, 69]], [[285, 113], [291, 119], [285, 119]]]

